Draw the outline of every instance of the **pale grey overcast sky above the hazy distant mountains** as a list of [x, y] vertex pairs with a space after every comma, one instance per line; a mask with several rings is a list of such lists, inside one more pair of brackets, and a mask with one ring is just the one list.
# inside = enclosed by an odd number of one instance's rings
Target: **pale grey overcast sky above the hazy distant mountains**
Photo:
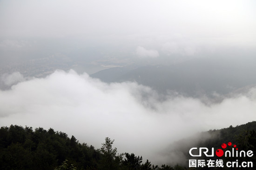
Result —
[[255, 0], [0, 1], [2, 47], [21, 46], [6, 39], [72, 38], [191, 55], [205, 46], [255, 48], [255, 30]]

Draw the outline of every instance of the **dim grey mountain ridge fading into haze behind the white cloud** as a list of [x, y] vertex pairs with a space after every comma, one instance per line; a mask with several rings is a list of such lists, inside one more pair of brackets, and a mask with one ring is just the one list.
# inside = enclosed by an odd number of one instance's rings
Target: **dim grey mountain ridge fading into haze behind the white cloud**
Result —
[[251, 58], [243, 61], [192, 59], [175, 65], [115, 67], [90, 76], [108, 83], [136, 81], [158, 92], [175, 91], [190, 97], [210, 96], [214, 92], [224, 95], [256, 85], [254, 63]]

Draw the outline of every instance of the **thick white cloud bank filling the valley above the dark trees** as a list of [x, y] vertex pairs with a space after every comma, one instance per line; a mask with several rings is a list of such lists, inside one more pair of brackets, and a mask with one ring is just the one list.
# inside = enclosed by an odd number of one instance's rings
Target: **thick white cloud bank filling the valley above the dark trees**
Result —
[[[199, 99], [166, 96], [136, 83], [106, 84], [74, 71], [55, 71], [0, 91], [0, 125], [54, 128], [101, 147], [115, 139], [120, 152], [152, 162], [172, 142], [198, 131], [236, 126], [256, 119], [256, 89], [205, 105]], [[165, 157], [166, 161], [169, 160]]]

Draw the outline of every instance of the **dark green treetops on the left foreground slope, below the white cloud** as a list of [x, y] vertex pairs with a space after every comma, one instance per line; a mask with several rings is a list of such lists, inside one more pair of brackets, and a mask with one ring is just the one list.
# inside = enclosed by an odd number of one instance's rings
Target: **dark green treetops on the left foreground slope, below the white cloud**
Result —
[[[106, 137], [100, 150], [66, 133], [11, 125], [0, 128], [0, 170], [157, 170], [135, 154], [117, 154]], [[68, 160], [68, 161], [67, 161]], [[141, 164], [142, 163], [142, 164]], [[162, 170], [162, 169], [159, 169]], [[168, 169], [166, 169], [168, 170]], [[172, 170], [172, 169], [171, 169]]]

